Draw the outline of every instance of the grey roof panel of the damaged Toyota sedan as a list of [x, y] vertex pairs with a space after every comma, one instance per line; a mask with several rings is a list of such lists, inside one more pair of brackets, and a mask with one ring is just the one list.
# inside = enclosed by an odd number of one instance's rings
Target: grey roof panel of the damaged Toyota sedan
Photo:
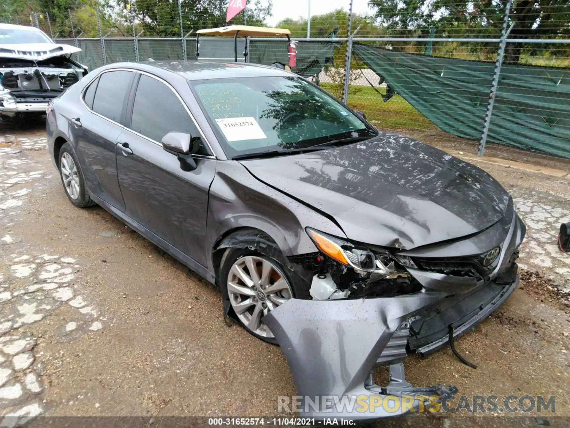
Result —
[[220, 63], [203, 61], [148, 61], [113, 63], [104, 68], [135, 68], [162, 78], [176, 74], [186, 80], [224, 79], [235, 77], [291, 76], [280, 68], [260, 64]]

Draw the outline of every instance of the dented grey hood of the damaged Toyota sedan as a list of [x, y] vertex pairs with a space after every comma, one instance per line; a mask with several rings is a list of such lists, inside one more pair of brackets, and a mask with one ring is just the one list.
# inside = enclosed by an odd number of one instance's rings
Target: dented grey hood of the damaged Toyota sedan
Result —
[[349, 239], [386, 247], [410, 249], [482, 231], [504, 215], [510, 197], [482, 169], [387, 133], [242, 164], [264, 183], [332, 216]]

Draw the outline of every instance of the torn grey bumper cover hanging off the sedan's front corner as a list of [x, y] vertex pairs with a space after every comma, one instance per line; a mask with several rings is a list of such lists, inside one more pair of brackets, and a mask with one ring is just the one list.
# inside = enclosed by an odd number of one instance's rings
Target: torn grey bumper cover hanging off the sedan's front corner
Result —
[[[391, 379], [388, 387], [374, 385], [371, 373], [394, 333], [414, 313], [445, 297], [445, 293], [420, 292], [392, 298], [359, 300], [291, 299], [272, 310], [263, 322], [271, 329], [291, 368], [298, 395], [303, 396], [303, 417], [380, 418], [405, 413], [385, 406], [350, 409], [323, 400], [323, 395], [368, 397], [382, 395], [445, 395], [454, 387], [418, 388], [405, 382], [401, 352], [386, 358]], [[319, 399], [320, 398], [320, 399]], [[376, 397], [377, 398], [377, 397]], [[319, 402], [315, 409], [312, 403]], [[419, 401], [419, 400], [417, 400]], [[417, 408], [419, 402], [414, 403]]]

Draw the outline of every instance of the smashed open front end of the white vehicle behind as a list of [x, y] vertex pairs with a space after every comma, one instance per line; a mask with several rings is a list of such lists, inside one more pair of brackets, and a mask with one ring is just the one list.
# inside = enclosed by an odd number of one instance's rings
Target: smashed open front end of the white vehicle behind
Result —
[[[29, 53], [29, 56], [32, 56]], [[16, 56], [16, 57], [14, 57]], [[45, 112], [47, 103], [87, 74], [87, 68], [68, 55], [46, 59], [0, 51], [0, 114]]]

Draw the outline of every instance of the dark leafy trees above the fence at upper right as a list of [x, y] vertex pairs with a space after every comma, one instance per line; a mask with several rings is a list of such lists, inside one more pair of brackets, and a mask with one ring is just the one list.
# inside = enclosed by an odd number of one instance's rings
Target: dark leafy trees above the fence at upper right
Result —
[[[374, 16], [393, 35], [498, 37], [507, 0], [370, 0]], [[570, 34], [568, 0], [513, 0], [510, 38], [556, 38]], [[519, 62], [521, 43], [508, 43], [504, 62]]]

